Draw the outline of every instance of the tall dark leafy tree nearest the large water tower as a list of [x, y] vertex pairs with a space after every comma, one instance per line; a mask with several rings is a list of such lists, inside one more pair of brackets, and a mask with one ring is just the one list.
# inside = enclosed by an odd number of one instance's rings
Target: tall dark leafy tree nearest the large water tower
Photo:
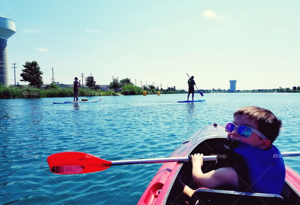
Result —
[[36, 61], [26, 61], [25, 65], [22, 65], [24, 69], [22, 69], [23, 73], [21, 73], [20, 81], [29, 82], [29, 86], [40, 88], [43, 85], [43, 72], [40, 70], [40, 66]]

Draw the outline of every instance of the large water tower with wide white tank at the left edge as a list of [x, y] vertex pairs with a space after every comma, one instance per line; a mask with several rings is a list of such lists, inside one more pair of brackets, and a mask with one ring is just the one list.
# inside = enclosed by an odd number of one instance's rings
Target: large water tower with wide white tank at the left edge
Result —
[[13, 20], [0, 16], [0, 83], [8, 82], [7, 39], [16, 33], [16, 24]]

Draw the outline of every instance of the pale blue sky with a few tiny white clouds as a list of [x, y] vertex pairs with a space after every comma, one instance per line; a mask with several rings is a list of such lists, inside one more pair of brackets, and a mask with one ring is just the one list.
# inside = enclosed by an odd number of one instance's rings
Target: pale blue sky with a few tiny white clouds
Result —
[[[40, 65], [44, 83], [72, 84], [92, 73], [137, 85], [187, 89], [272, 89], [300, 85], [299, 1], [0, 0], [16, 23], [9, 65]], [[11, 65], [13, 66], [13, 65]], [[9, 69], [9, 84], [14, 84]], [[24, 84], [24, 82], [20, 82]]]

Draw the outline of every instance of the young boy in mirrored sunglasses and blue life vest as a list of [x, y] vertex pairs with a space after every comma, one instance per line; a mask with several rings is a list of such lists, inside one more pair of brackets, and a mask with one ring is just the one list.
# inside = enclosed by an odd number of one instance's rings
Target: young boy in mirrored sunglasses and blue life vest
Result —
[[[259, 107], [243, 107], [233, 114], [227, 123], [227, 145], [237, 144], [233, 152], [242, 161], [231, 167], [221, 167], [203, 173], [203, 154], [191, 155], [192, 177], [200, 187], [242, 192], [281, 194], [285, 179], [285, 165], [278, 149], [272, 145], [279, 134], [281, 120], [269, 110]], [[182, 184], [183, 193], [192, 196], [195, 190]]]

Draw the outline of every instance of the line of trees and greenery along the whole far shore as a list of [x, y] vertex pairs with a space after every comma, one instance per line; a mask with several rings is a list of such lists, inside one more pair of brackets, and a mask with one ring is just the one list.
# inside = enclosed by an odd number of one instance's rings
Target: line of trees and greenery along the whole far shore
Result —
[[[22, 79], [20, 81], [29, 82], [28, 86], [32, 87], [37, 93], [43, 93], [44, 97], [51, 96], [51, 97], [69, 97], [72, 96], [73, 88], [60, 88], [58, 85], [51, 83], [50, 85], [46, 86], [46, 89], [42, 88], [43, 80], [42, 80], [42, 74], [43, 72], [40, 70], [40, 66], [38, 65], [37, 61], [32, 62], [25, 62], [24, 65], [22, 65], [24, 69], [22, 69], [22, 73], [20, 76]], [[96, 84], [96, 81], [93, 76], [88, 76], [85, 78], [85, 85], [87, 88], [83, 89], [82, 87], [79, 89], [79, 96], [88, 96], [90, 93], [93, 93], [93, 95], [102, 95], [101, 94], [101, 88], [100, 85]], [[28, 87], [27, 90], [23, 89], [22, 85], [16, 85], [17, 88], [22, 88], [22, 90], [19, 90], [16, 92], [16, 90], [12, 89], [3, 89], [4, 86], [0, 85], [0, 98], [20, 98], [22, 97], [20, 92], [24, 91], [23, 93], [31, 93], [31, 91]], [[11, 86], [9, 86], [11, 87]], [[12, 86], [13, 88], [15, 86]], [[15, 88], [15, 89], [17, 89]], [[29, 89], [29, 90], [28, 90]], [[42, 90], [48, 90], [49, 92], [45, 92]], [[55, 91], [55, 92], [54, 92]], [[186, 90], [177, 90], [175, 86], [168, 87], [167, 89], [159, 88], [158, 86], [153, 85], [143, 85], [142, 87], [135, 86], [130, 78], [124, 78], [122, 80], [118, 80], [117, 78], [113, 78], [113, 82], [110, 82], [109, 89], [106, 91], [105, 94], [108, 95], [117, 95], [116, 92], [122, 93], [123, 95], [142, 95], [143, 91], [147, 91], [149, 94], [156, 94], [158, 91], [162, 92], [162, 94], [173, 94], [173, 93], [187, 93]], [[274, 88], [274, 89], [258, 89], [258, 90], [236, 90], [232, 91], [230, 89], [200, 89], [203, 93], [247, 93], [247, 92], [300, 92], [300, 86], [293, 86], [292, 89], [290, 88]], [[33, 93], [36, 93], [33, 92]], [[98, 94], [97, 94], [98, 92]], [[197, 93], [198, 90], [195, 89], [195, 93]], [[14, 93], [10, 95], [10, 93]], [[96, 94], [95, 94], [96, 93]], [[24, 94], [23, 94], [24, 95]], [[26, 97], [26, 96], [25, 96]], [[27, 96], [28, 97], [28, 96]], [[31, 97], [31, 96], [29, 96]], [[36, 96], [36, 97], [42, 97]]]

